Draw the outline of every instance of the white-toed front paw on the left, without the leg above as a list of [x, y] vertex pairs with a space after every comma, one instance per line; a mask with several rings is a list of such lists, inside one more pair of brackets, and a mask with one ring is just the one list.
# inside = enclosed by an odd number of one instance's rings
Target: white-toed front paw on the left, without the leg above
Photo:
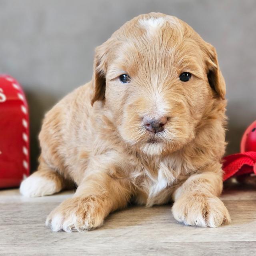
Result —
[[46, 226], [50, 226], [52, 231], [87, 231], [102, 225], [104, 212], [102, 200], [96, 197], [70, 198], [48, 215]]

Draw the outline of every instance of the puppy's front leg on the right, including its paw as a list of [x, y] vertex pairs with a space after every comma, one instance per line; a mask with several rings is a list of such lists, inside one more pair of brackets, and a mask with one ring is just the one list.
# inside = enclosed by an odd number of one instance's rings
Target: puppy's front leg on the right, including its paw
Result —
[[228, 210], [218, 198], [221, 191], [220, 175], [212, 172], [192, 175], [174, 192], [174, 218], [186, 225], [202, 227], [230, 223]]

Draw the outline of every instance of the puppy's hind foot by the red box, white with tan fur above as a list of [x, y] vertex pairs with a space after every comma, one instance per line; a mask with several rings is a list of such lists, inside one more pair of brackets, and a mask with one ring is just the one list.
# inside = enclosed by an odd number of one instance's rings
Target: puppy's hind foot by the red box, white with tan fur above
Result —
[[63, 187], [62, 176], [41, 161], [38, 170], [20, 184], [20, 193], [28, 197], [46, 196], [60, 192]]

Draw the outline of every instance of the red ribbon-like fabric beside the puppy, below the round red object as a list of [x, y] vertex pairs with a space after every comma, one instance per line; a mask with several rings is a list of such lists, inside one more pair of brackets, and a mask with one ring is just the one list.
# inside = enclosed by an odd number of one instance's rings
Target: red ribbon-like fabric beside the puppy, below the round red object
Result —
[[232, 154], [224, 157], [223, 160], [223, 180], [233, 175], [256, 173], [256, 152], [254, 151]]

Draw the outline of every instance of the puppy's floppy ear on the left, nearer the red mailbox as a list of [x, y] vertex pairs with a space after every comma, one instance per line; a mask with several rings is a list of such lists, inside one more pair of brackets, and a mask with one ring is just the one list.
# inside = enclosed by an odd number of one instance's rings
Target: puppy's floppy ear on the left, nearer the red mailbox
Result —
[[93, 106], [96, 100], [105, 100], [106, 90], [106, 72], [107, 72], [107, 55], [108, 41], [101, 46], [96, 47], [94, 56], [94, 68], [92, 76], [92, 92], [90, 94], [91, 104]]

